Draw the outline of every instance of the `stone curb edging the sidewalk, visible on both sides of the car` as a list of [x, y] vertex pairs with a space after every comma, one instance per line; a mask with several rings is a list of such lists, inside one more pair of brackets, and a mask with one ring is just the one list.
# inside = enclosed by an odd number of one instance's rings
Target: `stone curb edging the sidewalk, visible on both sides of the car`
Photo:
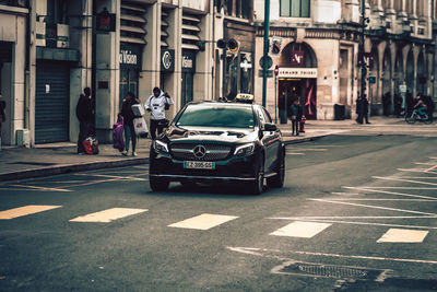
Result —
[[[326, 137], [328, 135], [320, 135], [316, 137], [300, 138], [295, 140], [285, 140], [284, 144], [297, 144], [314, 141], [316, 139]], [[68, 173], [76, 173], [76, 172], [86, 172], [86, 171], [95, 171], [102, 168], [115, 168], [115, 167], [125, 167], [125, 166], [133, 166], [139, 164], [147, 164], [149, 157], [144, 159], [125, 159], [117, 161], [104, 161], [104, 162], [92, 162], [92, 163], [82, 163], [82, 164], [68, 164], [61, 166], [46, 167], [46, 168], [36, 168], [36, 170], [27, 170], [27, 171], [19, 171], [12, 173], [0, 174], [0, 182], [7, 180], [17, 180], [25, 178], [37, 178], [44, 176], [51, 176], [58, 174], [68, 174]]]

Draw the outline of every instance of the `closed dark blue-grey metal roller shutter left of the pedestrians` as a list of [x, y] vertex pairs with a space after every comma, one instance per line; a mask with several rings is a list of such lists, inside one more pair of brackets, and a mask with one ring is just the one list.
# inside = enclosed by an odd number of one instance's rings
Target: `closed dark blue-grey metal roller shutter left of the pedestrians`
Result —
[[35, 142], [69, 140], [70, 69], [62, 62], [36, 67]]

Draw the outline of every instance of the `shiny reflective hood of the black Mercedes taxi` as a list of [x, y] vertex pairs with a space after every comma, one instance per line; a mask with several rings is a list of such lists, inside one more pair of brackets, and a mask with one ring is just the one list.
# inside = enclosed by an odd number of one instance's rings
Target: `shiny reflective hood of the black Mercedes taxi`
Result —
[[165, 136], [170, 142], [177, 141], [216, 141], [251, 142], [257, 137], [253, 129], [216, 128], [216, 127], [176, 127], [170, 126]]

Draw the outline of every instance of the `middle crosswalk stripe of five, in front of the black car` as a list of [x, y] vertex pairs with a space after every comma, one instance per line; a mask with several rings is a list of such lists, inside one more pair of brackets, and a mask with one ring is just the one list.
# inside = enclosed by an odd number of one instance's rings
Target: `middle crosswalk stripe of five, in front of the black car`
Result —
[[237, 219], [238, 217], [233, 215], [218, 215], [203, 213], [180, 222], [168, 225], [169, 227], [178, 229], [192, 229], [192, 230], [209, 230], [218, 226], [227, 221]]

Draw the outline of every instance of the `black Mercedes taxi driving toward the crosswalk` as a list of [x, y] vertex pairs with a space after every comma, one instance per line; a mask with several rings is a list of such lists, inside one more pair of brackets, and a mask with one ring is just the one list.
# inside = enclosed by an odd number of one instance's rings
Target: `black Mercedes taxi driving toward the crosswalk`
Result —
[[240, 182], [250, 194], [282, 187], [285, 145], [264, 107], [257, 104], [193, 102], [152, 142], [150, 186], [163, 191], [181, 184]]

